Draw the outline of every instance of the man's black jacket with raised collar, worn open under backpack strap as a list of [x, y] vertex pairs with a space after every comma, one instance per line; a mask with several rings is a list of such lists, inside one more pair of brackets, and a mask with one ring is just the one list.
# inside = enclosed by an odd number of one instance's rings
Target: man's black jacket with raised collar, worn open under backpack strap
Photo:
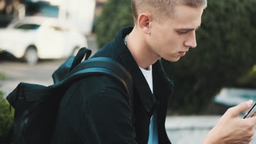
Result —
[[153, 91], [123, 39], [132, 27], [93, 57], [109, 57], [124, 65], [133, 80], [133, 100], [125, 88], [108, 76], [90, 76], [75, 82], [61, 100], [53, 143], [148, 143], [149, 124], [156, 110], [159, 143], [171, 143], [165, 130], [167, 104], [173, 92], [161, 62], [153, 64]]

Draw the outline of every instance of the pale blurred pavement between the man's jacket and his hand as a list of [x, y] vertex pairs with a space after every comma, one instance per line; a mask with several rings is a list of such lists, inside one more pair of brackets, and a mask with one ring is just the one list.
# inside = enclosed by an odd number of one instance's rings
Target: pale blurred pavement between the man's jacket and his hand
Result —
[[199, 144], [221, 116], [169, 116], [166, 132], [173, 144]]

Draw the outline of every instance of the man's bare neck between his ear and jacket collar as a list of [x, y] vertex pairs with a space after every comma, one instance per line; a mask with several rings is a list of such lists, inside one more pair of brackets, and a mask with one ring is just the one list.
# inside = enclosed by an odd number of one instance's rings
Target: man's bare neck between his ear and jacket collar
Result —
[[127, 37], [127, 47], [138, 66], [147, 69], [150, 65], [158, 61], [160, 56], [150, 49], [144, 35], [139, 33], [135, 26]]

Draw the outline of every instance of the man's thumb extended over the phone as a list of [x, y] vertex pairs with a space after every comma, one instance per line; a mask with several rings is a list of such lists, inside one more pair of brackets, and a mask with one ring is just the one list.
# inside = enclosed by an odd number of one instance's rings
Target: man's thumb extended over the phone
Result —
[[231, 113], [235, 116], [238, 116], [241, 112], [248, 110], [250, 107], [252, 107], [253, 101], [248, 100], [246, 102], [243, 102], [237, 106], [234, 106], [231, 108]]

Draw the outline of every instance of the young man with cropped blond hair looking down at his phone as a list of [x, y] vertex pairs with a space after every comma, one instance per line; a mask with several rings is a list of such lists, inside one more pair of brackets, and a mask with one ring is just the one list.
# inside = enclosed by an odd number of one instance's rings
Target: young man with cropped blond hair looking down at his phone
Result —
[[[130, 72], [133, 99], [108, 76], [75, 82], [61, 101], [53, 143], [171, 143], [165, 118], [173, 83], [160, 58], [176, 62], [196, 47], [206, 5], [206, 0], [132, 0], [135, 26], [121, 29], [93, 57], [115, 59]], [[249, 143], [256, 117], [237, 116], [251, 105], [229, 109], [203, 143]]]

